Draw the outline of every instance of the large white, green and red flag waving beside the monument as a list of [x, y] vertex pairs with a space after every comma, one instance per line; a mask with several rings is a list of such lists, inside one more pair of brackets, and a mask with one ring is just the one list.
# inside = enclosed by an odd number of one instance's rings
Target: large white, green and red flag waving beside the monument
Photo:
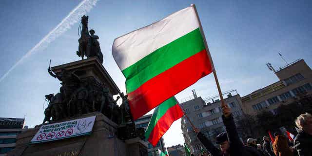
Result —
[[134, 119], [212, 72], [195, 6], [114, 40]]

